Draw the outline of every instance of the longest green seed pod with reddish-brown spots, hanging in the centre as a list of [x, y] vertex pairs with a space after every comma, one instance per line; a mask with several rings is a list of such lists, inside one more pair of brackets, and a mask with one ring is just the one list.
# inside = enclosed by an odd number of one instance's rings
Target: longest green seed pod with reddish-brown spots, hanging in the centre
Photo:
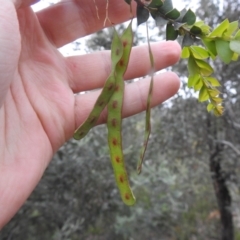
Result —
[[128, 175], [125, 168], [122, 150], [122, 135], [121, 135], [122, 104], [124, 94], [123, 75], [127, 69], [130, 52], [132, 49], [133, 42], [132, 23], [130, 23], [128, 28], [123, 32], [123, 35], [121, 36], [121, 41], [123, 46], [123, 55], [116, 66], [115, 91], [107, 105], [108, 145], [116, 183], [119, 188], [122, 200], [126, 205], [133, 205], [136, 200], [128, 181]]

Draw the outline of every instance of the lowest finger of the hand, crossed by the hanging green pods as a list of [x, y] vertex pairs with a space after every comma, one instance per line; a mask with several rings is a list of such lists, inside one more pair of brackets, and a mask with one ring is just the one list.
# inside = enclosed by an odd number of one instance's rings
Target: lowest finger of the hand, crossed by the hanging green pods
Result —
[[[125, 85], [123, 117], [140, 113], [146, 109], [150, 79], [143, 79]], [[180, 81], [173, 72], [165, 72], [154, 77], [151, 107], [172, 97], [179, 89]], [[77, 95], [75, 99], [76, 128], [83, 123], [92, 110], [100, 91]], [[101, 114], [98, 124], [106, 122], [106, 111]]]

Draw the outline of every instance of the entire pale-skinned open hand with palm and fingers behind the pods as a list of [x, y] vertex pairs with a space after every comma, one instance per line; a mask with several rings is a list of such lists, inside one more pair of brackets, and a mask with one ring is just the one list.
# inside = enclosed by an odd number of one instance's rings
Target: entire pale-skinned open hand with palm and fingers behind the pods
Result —
[[[111, 69], [108, 51], [64, 58], [57, 50], [103, 28], [106, 0], [97, 1], [100, 19], [90, 0], [66, 0], [37, 14], [29, 7], [34, 2], [0, 0], [0, 229], [29, 197], [99, 94], [74, 93], [103, 86]], [[112, 22], [129, 17], [123, 0], [109, 1]], [[160, 70], [175, 64], [181, 50], [176, 42], [161, 42], [152, 51]], [[147, 46], [134, 48], [125, 80], [149, 70]], [[173, 96], [179, 85], [172, 72], [156, 75], [152, 106]], [[126, 87], [124, 117], [145, 110], [148, 86], [146, 79]], [[98, 124], [105, 121], [106, 112]]]

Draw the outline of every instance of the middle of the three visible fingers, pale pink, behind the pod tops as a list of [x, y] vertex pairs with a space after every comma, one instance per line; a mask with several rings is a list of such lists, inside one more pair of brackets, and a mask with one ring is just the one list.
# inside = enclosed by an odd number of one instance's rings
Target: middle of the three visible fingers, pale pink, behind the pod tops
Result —
[[[181, 48], [177, 42], [160, 42], [151, 46], [155, 70], [171, 66], [180, 58]], [[71, 72], [69, 85], [75, 93], [102, 87], [111, 71], [109, 51], [69, 57], [66, 63]], [[129, 80], [145, 76], [150, 69], [148, 47], [135, 47], [124, 78]]]

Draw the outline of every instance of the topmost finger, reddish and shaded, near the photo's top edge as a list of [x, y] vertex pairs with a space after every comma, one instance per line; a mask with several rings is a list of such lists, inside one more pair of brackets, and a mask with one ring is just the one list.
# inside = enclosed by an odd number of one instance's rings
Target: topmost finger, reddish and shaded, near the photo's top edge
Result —
[[[61, 47], [104, 27], [107, 1], [95, 2], [97, 8], [94, 0], [64, 0], [38, 12], [37, 16], [49, 39], [57, 47]], [[131, 17], [129, 5], [123, 0], [109, 1], [108, 13], [114, 24]], [[110, 25], [110, 22], [106, 21], [106, 27]]]

